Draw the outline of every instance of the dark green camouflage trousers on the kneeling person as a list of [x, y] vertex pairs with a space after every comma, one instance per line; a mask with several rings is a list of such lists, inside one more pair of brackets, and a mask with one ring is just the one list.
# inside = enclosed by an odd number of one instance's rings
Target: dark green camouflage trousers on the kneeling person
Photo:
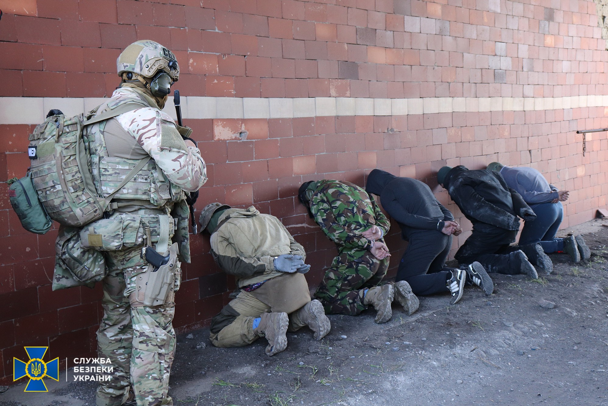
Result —
[[314, 297], [323, 304], [326, 314], [358, 315], [367, 309], [363, 303], [365, 289], [378, 286], [388, 269], [389, 258], [379, 261], [369, 251], [353, 261], [341, 254], [325, 271]]

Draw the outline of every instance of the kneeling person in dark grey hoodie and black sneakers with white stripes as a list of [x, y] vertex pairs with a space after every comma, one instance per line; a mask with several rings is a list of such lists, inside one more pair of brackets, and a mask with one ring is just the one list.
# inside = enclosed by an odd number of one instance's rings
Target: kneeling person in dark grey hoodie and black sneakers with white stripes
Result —
[[401, 236], [409, 242], [399, 262], [396, 281], [409, 283], [416, 295], [450, 292], [451, 304], [454, 304], [463, 294], [468, 275], [486, 295], [492, 294], [492, 279], [479, 262], [472, 262], [465, 269], [446, 267], [452, 234], [460, 234], [457, 231], [460, 225], [429, 186], [374, 169], [367, 178], [365, 190], [380, 197], [382, 207], [399, 224]]

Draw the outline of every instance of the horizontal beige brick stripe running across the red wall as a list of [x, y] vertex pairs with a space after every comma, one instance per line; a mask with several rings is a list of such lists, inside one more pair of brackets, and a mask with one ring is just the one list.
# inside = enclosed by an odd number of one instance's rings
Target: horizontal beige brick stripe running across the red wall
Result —
[[[363, 97], [252, 98], [182, 96], [184, 119], [255, 119], [314, 116], [406, 116], [408, 114], [477, 113], [483, 111], [559, 110], [608, 106], [608, 96], [565, 97]], [[38, 124], [47, 111], [67, 115], [88, 111], [104, 99], [94, 97], [0, 97], [0, 124]], [[165, 111], [175, 116], [173, 97]]]

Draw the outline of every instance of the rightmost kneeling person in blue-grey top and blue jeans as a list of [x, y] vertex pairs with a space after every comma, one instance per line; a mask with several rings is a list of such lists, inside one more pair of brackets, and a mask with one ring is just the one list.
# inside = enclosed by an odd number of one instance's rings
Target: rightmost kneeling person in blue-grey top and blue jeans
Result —
[[564, 252], [574, 262], [589, 260], [591, 251], [582, 236], [555, 237], [564, 217], [562, 201], [568, 200], [569, 191], [560, 191], [549, 184], [542, 173], [534, 168], [510, 167], [492, 162], [487, 169], [499, 172], [506, 184], [522, 195], [536, 214], [536, 220], [524, 223], [519, 245], [539, 243], [545, 253]]

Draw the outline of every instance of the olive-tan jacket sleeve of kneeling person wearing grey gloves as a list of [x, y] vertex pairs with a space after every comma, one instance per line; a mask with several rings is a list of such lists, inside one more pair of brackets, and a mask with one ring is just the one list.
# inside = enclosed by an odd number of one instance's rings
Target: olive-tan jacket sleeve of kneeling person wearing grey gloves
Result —
[[215, 263], [227, 274], [237, 278], [269, 274], [276, 271], [274, 256], [244, 257], [235, 249], [226, 226], [211, 236], [211, 254]]

